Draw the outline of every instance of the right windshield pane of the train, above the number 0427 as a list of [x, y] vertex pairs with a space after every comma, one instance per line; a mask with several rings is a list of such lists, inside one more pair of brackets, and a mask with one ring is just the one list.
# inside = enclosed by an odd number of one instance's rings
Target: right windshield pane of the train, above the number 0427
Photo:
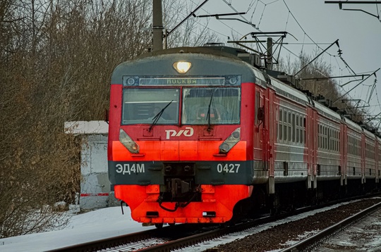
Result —
[[241, 89], [184, 88], [181, 124], [238, 124], [240, 122]]

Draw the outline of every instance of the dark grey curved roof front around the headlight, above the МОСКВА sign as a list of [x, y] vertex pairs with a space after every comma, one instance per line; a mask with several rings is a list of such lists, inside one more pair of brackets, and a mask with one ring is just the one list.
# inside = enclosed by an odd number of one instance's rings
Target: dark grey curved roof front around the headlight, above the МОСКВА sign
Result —
[[[229, 49], [233, 50], [233, 49]], [[236, 50], [236, 54], [241, 49]], [[173, 68], [176, 61], [193, 61], [192, 68], [182, 76], [241, 75], [241, 82], [255, 82], [258, 77], [250, 65], [226, 51], [205, 47], [179, 47], [145, 53], [132, 61], [119, 64], [111, 75], [111, 84], [121, 84], [125, 75], [179, 75]], [[229, 63], [229, 67], [226, 64]]]

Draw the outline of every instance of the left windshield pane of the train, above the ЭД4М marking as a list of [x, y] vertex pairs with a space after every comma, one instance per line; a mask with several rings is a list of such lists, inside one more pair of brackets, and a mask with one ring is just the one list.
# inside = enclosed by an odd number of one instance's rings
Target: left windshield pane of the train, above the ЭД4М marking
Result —
[[178, 124], [179, 94], [180, 89], [123, 89], [122, 125]]

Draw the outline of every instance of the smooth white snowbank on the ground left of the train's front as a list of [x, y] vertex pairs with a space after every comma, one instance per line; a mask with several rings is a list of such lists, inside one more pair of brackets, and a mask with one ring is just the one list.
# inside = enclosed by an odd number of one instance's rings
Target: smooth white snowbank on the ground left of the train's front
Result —
[[123, 211], [124, 215], [121, 207], [111, 207], [72, 215], [64, 229], [0, 239], [0, 251], [49, 251], [155, 228], [142, 227], [141, 223], [133, 221], [130, 208], [123, 208]]

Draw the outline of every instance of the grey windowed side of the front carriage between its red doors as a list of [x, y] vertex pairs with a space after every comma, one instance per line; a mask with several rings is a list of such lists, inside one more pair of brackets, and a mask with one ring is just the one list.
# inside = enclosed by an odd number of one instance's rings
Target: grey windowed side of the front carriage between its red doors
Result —
[[274, 143], [275, 183], [306, 181], [308, 153], [306, 152], [306, 116], [310, 101], [302, 92], [271, 78], [277, 99], [273, 110], [277, 124]]

